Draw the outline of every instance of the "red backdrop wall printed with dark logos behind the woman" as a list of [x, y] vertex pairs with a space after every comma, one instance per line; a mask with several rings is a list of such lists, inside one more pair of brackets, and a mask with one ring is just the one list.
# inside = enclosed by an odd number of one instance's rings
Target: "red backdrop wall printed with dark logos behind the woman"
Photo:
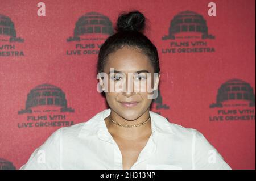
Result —
[[56, 129], [107, 108], [99, 47], [121, 11], [148, 19], [162, 79], [152, 111], [199, 130], [232, 169], [255, 169], [255, 1], [1, 0], [0, 169], [19, 169]]

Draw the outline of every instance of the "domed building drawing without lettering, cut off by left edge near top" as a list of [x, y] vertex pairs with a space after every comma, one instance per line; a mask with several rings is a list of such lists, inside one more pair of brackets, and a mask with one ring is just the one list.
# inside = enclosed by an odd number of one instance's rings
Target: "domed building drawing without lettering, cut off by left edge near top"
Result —
[[16, 36], [16, 30], [11, 18], [0, 14], [0, 41], [23, 42], [24, 39]]

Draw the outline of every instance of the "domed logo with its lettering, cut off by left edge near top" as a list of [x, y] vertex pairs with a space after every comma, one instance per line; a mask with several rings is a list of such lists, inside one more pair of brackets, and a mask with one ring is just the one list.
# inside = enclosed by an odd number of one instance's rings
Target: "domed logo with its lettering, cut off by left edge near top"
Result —
[[24, 56], [23, 51], [16, 47], [16, 43], [23, 42], [24, 39], [16, 36], [11, 18], [0, 14], [0, 56]]

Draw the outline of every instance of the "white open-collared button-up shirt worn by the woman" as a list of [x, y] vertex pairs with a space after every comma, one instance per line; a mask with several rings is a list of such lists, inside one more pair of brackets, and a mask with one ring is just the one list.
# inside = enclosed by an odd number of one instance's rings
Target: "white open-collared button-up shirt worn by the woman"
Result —
[[[122, 169], [121, 151], [104, 121], [110, 111], [57, 129], [20, 169]], [[231, 169], [196, 129], [150, 116], [152, 134], [131, 169]]]

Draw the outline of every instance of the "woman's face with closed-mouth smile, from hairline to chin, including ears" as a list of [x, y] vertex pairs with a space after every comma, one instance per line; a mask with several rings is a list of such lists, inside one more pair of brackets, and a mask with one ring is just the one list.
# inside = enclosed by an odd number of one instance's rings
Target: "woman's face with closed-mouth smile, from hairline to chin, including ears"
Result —
[[[108, 81], [100, 79], [100, 84], [105, 91], [109, 107], [115, 113], [123, 119], [132, 121], [149, 110], [152, 99], [148, 96], [153, 94], [153, 89], [158, 89], [160, 77], [155, 76], [154, 81], [154, 67], [145, 54], [131, 47], [118, 49], [109, 54], [104, 73], [108, 74]], [[106, 83], [108, 87], [105, 86]], [[150, 92], [147, 84], [150, 85]], [[110, 86], [114, 87], [114, 91], [113, 89], [110, 91]], [[129, 86], [130, 89], [128, 89]], [[135, 106], [127, 106], [122, 102], [138, 103]]]

